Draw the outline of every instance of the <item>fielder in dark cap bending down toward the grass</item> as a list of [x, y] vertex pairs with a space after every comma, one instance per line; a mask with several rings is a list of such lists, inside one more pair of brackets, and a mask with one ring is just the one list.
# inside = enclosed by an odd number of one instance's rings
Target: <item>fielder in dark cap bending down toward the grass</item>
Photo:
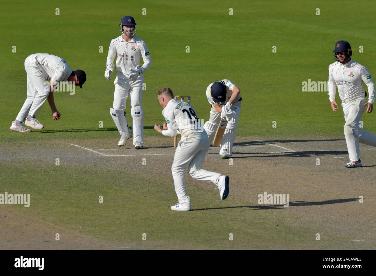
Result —
[[[86, 81], [86, 74], [82, 70], [73, 71], [64, 59], [53, 54], [32, 54], [25, 60], [27, 73], [27, 98], [15, 121], [12, 122], [11, 130], [18, 132], [31, 132], [24, 127], [42, 129], [42, 125], [35, 117], [39, 115], [45, 100], [48, 101], [52, 110], [52, 118], [59, 120], [61, 114], [55, 106], [53, 98], [54, 87], [60, 81], [68, 81], [69, 84], [80, 86]], [[48, 84], [47, 81], [50, 81]]]

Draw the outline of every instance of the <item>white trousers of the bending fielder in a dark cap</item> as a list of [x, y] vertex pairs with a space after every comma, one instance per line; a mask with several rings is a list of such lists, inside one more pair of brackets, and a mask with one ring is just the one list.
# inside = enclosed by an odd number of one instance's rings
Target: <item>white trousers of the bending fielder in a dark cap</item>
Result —
[[42, 106], [50, 94], [48, 83], [43, 77], [42, 70], [35, 65], [31, 56], [25, 60], [25, 70], [27, 73], [27, 98], [23, 104], [16, 120], [24, 122], [27, 115], [38, 116]]

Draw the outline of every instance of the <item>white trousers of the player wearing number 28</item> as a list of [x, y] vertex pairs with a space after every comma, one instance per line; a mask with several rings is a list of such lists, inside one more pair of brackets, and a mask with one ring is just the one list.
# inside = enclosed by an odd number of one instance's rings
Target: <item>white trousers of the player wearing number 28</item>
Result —
[[206, 133], [199, 134], [202, 138], [195, 140], [180, 140], [176, 147], [174, 162], [171, 167], [175, 192], [179, 204], [189, 202], [185, 188], [184, 173], [188, 167], [190, 176], [202, 181], [211, 181], [218, 186], [220, 173], [201, 169], [206, 153], [209, 150], [209, 139]]

